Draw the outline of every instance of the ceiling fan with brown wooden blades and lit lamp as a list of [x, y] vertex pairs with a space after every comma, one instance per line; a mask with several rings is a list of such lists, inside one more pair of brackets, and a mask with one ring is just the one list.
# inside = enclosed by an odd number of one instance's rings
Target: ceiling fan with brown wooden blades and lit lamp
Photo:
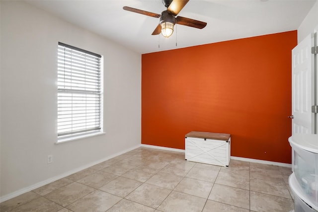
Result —
[[181, 24], [185, 26], [195, 27], [198, 29], [203, 29], [207, 23], [185, 18], [181, 16], [176, 16], [185, 4], [189, 0], [162, 0], [163, 5], [167, 8], [160, 14], [154, 12], [148, 12], [141, 9], [132, 8], [129, 6], [124, 6], [123, 9], [131, 12], [137, 12], [143, 15], [148, 15], [155, 18], [160, 18], [159, 24], [154, 30], [152, 35], [159, 35], [160, 32], [164, 37], [170, 37], [173, 33], [173, 27], [175, 24]]

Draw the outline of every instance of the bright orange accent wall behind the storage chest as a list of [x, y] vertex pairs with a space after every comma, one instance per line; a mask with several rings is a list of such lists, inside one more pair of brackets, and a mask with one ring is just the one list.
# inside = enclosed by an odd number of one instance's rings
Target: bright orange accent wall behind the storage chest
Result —
[[184, 149], [190, 131], [231, 134], [231, 156], [291, 163], [297, 31], [142, 55], [142, 143]]

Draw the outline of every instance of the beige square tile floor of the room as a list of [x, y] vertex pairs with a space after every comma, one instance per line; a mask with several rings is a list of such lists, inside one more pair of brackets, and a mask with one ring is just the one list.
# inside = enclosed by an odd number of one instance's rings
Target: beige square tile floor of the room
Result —
[[289, 212], [291, 168], [220, 167], [140, 147], [1, 203], [1, 212]]

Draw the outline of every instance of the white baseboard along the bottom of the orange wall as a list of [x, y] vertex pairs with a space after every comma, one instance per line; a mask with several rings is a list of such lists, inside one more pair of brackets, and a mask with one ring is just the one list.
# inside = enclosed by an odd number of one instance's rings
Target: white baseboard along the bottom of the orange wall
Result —
[[[140, 144], [140, 146], [163, 149], [163, 150], [170, 150], [170, 151], [185, 152], [184, 149], [169, 148], [169, 147], [155, 146], [155, 145], [149, 145], [149, 144]], [[292, 164], [289, 164], [289, 163], [280, 163], [280, 162], [273, 162], [273, 161], [268, 161], [268, 160], [258, 160], [258, 159], [252, 159], [252, 158], [246, 158], [246, 157], [231, 156], [231, 159], [241, 160], [241, 161], [246, 161], [246, 162], [251, 162], [251, 163], [263, 163], [263, 164], [269, 164], [269, 165], [275, 165], [275, 166], [292, 167]]]

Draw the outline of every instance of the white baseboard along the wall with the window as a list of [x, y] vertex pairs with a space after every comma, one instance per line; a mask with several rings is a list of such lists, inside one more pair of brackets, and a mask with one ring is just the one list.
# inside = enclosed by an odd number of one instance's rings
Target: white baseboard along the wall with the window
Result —
[[98, 164], [98, 163], [104, 162], [105, 160], [109, 160], [109, 159], [111, 159], [111, 158], [113, 158], [113, 157], [116, 157], [116, 156], [118, 156], [118, 155], [124, 154], [124, 153], [126, 153], [126, 152], [128, 152], [128, 151], [131, 151], [131, 150], [133, 150], [133, 149], [136, 149], [136, 148], [138, 148], [138, 147], [140, 147], [140, 145], [133, 146], [133, 147], [131, 147], [131, 148], [125, 149], [125, 150], [120, 151], [120, 152], [118, 152], [118, 153], [116, 153], [116, 154], [112, 154], [112, 155], [110, 155], [110, 156], [108, 156], [108, 157], [105, 157], [105, 158], [103, 158], [103, 159], [94, 161], [94, 162], [92, 162], [92, 163], [88, 163], [88, 164], [86, 164], [86, 165], [84, 165], [84, 166], [81, 166], [81, 167], [79, 167], [79, 168], [76, 168], [76, 169], [73, 169], [73, 170], [71, 170], [71, 171], [65, 172], [65, 173], [60, 174], [60, 175], [58, 175], [58, 176], [51, 177], [51, 178], [49, 178], [49, 179], [47, 179], [47, 180], [41, 181], [41, 182], [39, 182], [39, 183], [36, 183], [36, 184], [31, 185], [31, 186], [25, 187], [25, 188], [23, 188], [23, 189], [17, 190], [17, 191], [15, 191], [15, 192], [10, 193], [10, 194], [4, 195], [4, 196], [0, 197], [0, 203], [2, 203], [2, 202], [4, 202], [4, 201], [7, 201], [7, 200], [9, 200], [9, 199], [11, 199], [11, 198], [17, 197], [17, 196], [19, 196], [19, 195], [21, 195], [21, 194], [24, 194], [24, 193], [26, 193], [26, 192], [32, 191], [32, 190], [34, 190], [34, 189], [40, 188], [41, 186], [44, 186], [44, 185], [46, 185], [46, 184], [49, 184], [49, 183], [52, 183], [52, 182], [54, 182], [54, 181], [60, 180], [60, 179], [62, 179], [62, 178], [64, 178], [64, 177], [67, 177], [67, 176], [69, 176], [69, 175], [71, 175], [71, 174], [74, 174], [74, 173], [76, 173], [76, 172], [79, 172], [79, 171], [81, 171], [81, 170], [84, 170], [84, 169], [86, 169], [86, 168], [89, 168], [89, 167], [91, 167], [91, 166], [94, 166], [94, 165], [96, 165], [96, 164]]

